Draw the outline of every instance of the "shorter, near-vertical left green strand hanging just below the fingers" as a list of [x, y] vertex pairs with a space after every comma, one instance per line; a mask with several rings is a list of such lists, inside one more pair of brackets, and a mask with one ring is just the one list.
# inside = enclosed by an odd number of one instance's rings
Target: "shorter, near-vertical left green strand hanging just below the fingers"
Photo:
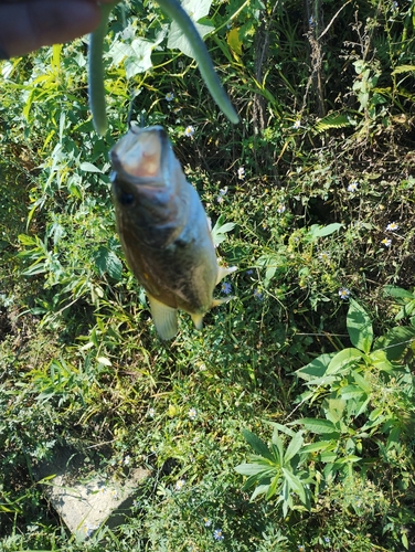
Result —
[[104, 136], [107, 130], [107, 112], [104, 88], [104, 39], [107, 34], [108, 18], [111, 9], [119, 3], [115, 0], [100, 6], [99, 26], [91, 34], [88, 51], [88, 88], [89, 107], [93, 114], [95, 130]]

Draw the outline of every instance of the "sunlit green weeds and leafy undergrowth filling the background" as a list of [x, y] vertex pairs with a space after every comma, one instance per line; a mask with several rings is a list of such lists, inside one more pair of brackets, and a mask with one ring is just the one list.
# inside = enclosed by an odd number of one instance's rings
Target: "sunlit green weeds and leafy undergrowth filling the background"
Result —
[[[241, 117], [157, 6], [1, 62], [0, 550], [415, 548], [409, 1], [188, 2]], [[162, 125], [238, 272], [161, 342], [117, 238], [108, 149]], [[60, 446], [150, 477], [83, 543], [34, 471]], [[98, 458], [98, 460], [97, 460]]]

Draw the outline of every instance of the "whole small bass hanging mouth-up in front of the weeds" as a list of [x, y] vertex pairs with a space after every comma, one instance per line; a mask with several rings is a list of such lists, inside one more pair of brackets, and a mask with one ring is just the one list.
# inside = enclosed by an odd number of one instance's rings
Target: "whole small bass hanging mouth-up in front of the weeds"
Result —
[[178, 332], [178, 309], [201, 330], [215, 286], [235, 266], [220, 266], [210, 220], [161, 126], [129, 131], [109, 158], [118, 235], [127, 264], [145, 288], [162, 340]]

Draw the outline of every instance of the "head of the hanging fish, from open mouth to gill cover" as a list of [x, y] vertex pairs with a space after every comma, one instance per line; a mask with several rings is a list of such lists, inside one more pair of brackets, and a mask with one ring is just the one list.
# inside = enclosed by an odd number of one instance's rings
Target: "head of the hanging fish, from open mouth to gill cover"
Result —
[[174, 240], [188, 215], [189, 184], [164, 129], [131, 127], [109, 156], [120, 233], [155, 247]]

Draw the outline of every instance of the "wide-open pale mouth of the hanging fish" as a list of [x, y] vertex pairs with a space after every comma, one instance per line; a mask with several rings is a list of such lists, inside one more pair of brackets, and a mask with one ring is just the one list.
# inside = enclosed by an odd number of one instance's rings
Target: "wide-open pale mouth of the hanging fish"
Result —
[[157, 185], [157, 181], [162, 179], [167, 140], [162, 127], [131, 127], [110, 151], [114, 170], [131, 183], [147, 180]]

